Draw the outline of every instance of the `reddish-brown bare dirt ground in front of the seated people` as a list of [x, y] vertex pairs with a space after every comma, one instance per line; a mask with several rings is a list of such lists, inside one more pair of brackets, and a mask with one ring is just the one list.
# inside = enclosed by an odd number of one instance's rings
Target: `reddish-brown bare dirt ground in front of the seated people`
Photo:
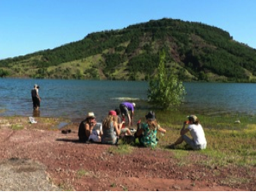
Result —
[[[40, 126], [40, 125], [35, 125]], [[34, 173], [45, 185], [54, 182], [64, 190], [255, 190], [254, 170], [243, 168], [211, 168], [190, 163], [179, 164], [171, 150], [134, 148], [128, 155], [112, 152], [112, 146], [80, 144], [77, 125], [69, 125], [73, 132], [35, 130], [25, 127], [20, 131], [0, 129], [0, 169], [7, 164], [20, 174]], [[191, 161], [197, 157], [191, 154]], [[15, 160], [15, 163], [13, 162]], [[18, 169], [14, 165], [23, 167]], [[25, 166], [25, 167], [24, 167]], [[253, 168], [252, 168], [253, 169]], [[41, 172], [40, 172], [41, 170]], [[8, 171], [8, 170], [5, 170]], [[38, 172], [39, 171], [39, 172]], [[47, 171], [42, 182], [42, 172]], [[32, 175], [31, 175], [32, 176]], [[32, 176], [32, 177], [33, 177]], [[50, 180], [47, 180], [47, 176]], [[247, 182], [228, 182], [231, 176], [244, 177]], [[4, 190], [4, 174], [0, 175], [0, 189]], [[13, 180], [16, 181], [16, 180]], [[33, 180], [34, 181], [34, 180]], [[22, 181], [24, 182], [24, 181]], [[17, 182], [16, 182], [17, 183]], [[24, 185], [25, 186], [25, 185]], [[24, 187], [23, 186], [23, 187]], [[59, 190], [54, 185], [52, 190]], [[19, 190], [28, 189], [16, 186]], [[31, 187], [31, 189], [33, 189]], [[13, 189], [15, 190], [15, 189]], [[39, 188], [48, 190], [48, 188]]]

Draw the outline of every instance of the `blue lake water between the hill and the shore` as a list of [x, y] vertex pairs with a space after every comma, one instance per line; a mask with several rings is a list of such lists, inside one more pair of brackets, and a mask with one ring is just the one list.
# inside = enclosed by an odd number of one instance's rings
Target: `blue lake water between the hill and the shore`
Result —
[[[101, 120], [126, 98], [136, 100], [140, 114], [149, 110], [148, 83], [143, 81], [0, 79], [0, 115], [33, 116], [30, 92], [35, 83], [41, 87], [42, 107], [40, 114], [36, 114], [41, 117], [84, 118], [92, 111]], [[184, 83], [184, 86], [187, 95], [181, 108], [188, 113], [256, 113], [255, 84]]]

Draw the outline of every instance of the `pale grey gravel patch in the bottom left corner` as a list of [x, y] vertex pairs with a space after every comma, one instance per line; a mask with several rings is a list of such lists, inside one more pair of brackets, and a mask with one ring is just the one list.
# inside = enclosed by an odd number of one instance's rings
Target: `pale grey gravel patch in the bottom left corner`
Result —
[[1, 191], [61, 191], [54, 186], [44, 165], [12, 158], [0, 163]]

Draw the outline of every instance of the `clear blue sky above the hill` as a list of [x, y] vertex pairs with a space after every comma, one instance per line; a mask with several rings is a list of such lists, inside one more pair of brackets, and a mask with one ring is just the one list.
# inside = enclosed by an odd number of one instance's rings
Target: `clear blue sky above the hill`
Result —
[[227, 30], [256, 48], [255, 0], [0, 0], [0, 60], [163, 17]]

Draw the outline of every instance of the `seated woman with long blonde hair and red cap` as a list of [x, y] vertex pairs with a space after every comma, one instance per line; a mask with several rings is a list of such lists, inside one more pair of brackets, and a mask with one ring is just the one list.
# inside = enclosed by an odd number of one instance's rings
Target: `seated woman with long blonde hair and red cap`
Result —
[[120, 127], [118, 127], [118, 116], [113, 112], [109, 112], [102, 124], [103, 135], [101, 137], [102, 144], [118, 144], [118, 136], [120, 135]]

